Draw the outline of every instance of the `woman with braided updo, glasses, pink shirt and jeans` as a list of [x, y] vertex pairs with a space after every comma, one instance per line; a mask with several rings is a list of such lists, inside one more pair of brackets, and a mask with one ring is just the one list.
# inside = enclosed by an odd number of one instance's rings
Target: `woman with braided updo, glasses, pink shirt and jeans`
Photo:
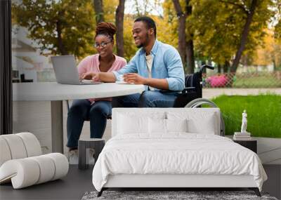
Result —
[[[78, 65], [79, 76], [87, 72], [112, 72], [126, 65], [126, 60], [114, 55], [114, 35], [116, 27], [112, 23], [100, 22], [96, 27], [95, 44], [98, 53], [89, 55]], [[78, 164], [78, 140], [85, 120], [90, 120], [91, 138], [102, 138], [107, 116], [111, 115], [111, 98], [74, 100], [67, 115], [67, 147], [70, 148], [70, 164]], [[90, 152], [91, 154], [92, 152]], [[91, 158], [90, 156], [90, 164]]]

